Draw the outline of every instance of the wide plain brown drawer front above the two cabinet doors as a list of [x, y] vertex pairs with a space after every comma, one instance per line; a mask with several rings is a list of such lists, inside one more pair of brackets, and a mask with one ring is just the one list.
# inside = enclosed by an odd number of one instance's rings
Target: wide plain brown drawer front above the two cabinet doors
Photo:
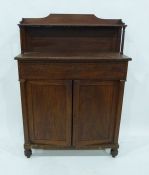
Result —
[[30, 63], [19, 62], [20, 79], [125, 80], [128, 62]]

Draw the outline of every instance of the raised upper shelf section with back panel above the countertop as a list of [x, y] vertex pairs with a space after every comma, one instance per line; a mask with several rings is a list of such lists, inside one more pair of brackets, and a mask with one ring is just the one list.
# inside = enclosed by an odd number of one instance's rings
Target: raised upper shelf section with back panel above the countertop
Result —
[[122, 52], [122, 29], [126, 25], [121, 20], [94, 15], [51, 14], [46, 18], [24, 18], [19, 26], [22, 53], [84, 53]]

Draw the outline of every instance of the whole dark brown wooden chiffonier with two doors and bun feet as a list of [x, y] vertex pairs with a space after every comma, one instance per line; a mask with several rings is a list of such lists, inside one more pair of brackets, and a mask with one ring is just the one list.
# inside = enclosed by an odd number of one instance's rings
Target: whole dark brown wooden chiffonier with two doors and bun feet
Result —
[[111, 149], [118, 154], [126, 25], [94, 15], [23, 18], [18, 61], [24, 149]]

